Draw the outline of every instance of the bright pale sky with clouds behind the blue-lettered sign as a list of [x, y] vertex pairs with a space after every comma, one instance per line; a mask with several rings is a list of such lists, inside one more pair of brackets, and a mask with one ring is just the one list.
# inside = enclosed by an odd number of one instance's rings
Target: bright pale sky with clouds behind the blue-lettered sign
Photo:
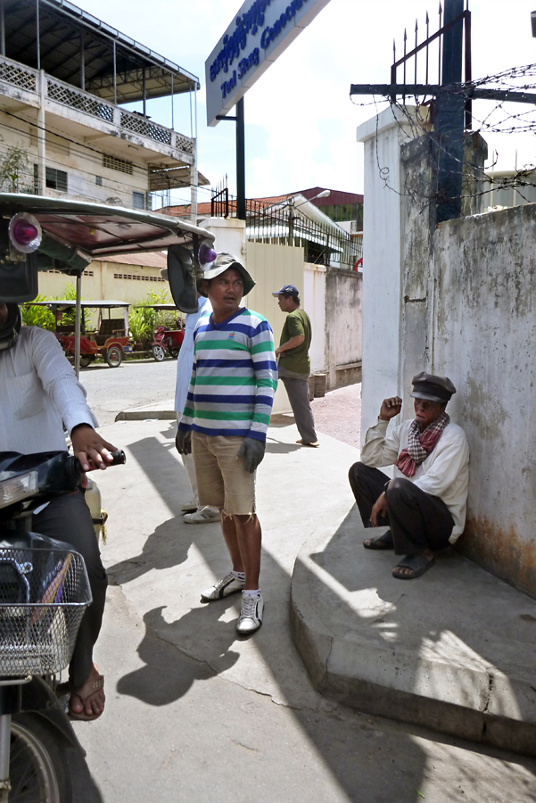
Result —
[[[234, 194], [235, 124], [207, 127], [204, 62], [240, 9], [240, 0], [75, 2], [199, 77], [199, 170], [212, 186], [227, 175]], [[367, 97], [352, 102], [350, 84], [388, 83], [393, 38], [400, 54], [407, 28], [409, 50], [416, 21], [420, 31], [425, 29], [426, 11], [431, 33], [437, 29], [438, 5], [438, 0], [330, 0], [244, 96], [246, 196], [284, 195], [310, 186], [362, 193], [363, 146], [356, 142], [356, 128], [375, 115], [376, 107], [359, 105], [370, 103]], [[474, 79], [536, 62], [531, 30], [536, 0], [469, 0], [469, 7]], [[489, 108], [489, 103], [475, 103], [475, 116], [482, 119]], [[534, 114], [532, 107], [521, 110], [536, 120], [536, 109]], [[147, 113], [170, 126], [170, 99], [149, 101]], [[175, 128], [191, 134], [187, 97], [175, 99]], [[536, 163], [533, 134], [486, 138], [496, 170], [513, 169], [515, 161], [518, 168]], [[178, 191], [174, 200], [183, 198], [187, 201], [189, 194]], [[210, 191], [201, 190], [199, 200], [209, 199]]]

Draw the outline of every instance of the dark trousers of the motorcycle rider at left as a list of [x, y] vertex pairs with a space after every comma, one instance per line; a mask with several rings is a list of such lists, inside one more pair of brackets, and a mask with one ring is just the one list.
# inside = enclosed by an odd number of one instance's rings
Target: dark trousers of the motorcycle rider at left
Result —
[[70, 544], [86, 563], [93, 602], [82, 617], [69, 667], [70, 683], [74, 689], [79, 689], [86, 683], [93, 665], [93, 647], [103, 622], [108, 585], [83, 493], [71, 493], [51, 501], [37, 516], [33, 516], [32, 530]]

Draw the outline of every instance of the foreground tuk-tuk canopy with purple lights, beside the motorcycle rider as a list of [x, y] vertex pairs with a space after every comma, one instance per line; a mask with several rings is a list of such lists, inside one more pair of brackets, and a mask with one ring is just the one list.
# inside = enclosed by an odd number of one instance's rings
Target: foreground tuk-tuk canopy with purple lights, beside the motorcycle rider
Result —
[[[0, 193], [0, 298], [14, 303], [33, 301], [42, 270], [76, 277], [74, 362], [78, 375], [82, 274], [93, 259], [167, 250], [169, 289], [177, 308], [188, 313], [197, 310], [196, 280], [202, 275], [198, 253], [202, 246], [211, 248], [213, 244], [210, 231], [185, 219], [103, 203]], [[95, 306], [95, 302], [88, 303]], [[125, 348], [119, 358], [118, 351], [112, 351], [117, 347], [106, 346], [107, 340], [108, 336], [99, 344], [95, 337], [95, 351], [100, 347], [111, 360], [122, 360]]]

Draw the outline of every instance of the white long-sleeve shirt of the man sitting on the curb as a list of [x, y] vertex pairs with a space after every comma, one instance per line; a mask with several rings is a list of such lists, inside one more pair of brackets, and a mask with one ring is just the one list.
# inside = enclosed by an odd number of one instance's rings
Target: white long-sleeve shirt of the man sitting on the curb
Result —
[[[392, 466], [400, 451], [408, 448], [411, 421], [404, 421], [387, 435], [389, 421], [371, 426], [365, 435], [361, 461], [371, 468]], [[441, 438], [430, 454], [416, 467], [414, 476], [402, 474], [394, 467], [394, 476], [415, 483], [421, 491], [437, 496], [449, 508], [454, 527], [449, 542], [455, 543], [466, 526], [467, 489], [469, 485], [469, 444], [466, 434], [457, 424], [445, 426]]]

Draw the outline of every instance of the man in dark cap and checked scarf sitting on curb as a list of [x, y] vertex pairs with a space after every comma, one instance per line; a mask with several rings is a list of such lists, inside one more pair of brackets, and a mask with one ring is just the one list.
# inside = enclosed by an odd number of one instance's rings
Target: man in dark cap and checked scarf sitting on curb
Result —
[[[366, 527], [389, 525], [363, 542], [367, 550], [406, 555], [393, 577], [412, 580], [433, 566], [433, 552], [457, 541], [466, 522], [469, 446], [445, 412], [456, 388], [447, 377], [423, 371], [413, 377], [415, 418], [387, 435], [400, 413], [399, 396], [384, 399], [375, 426], [365, 436], [361, 462], [350, 468], [350, 486]], [[394, 478], [378, 466], [394, 463]]]

